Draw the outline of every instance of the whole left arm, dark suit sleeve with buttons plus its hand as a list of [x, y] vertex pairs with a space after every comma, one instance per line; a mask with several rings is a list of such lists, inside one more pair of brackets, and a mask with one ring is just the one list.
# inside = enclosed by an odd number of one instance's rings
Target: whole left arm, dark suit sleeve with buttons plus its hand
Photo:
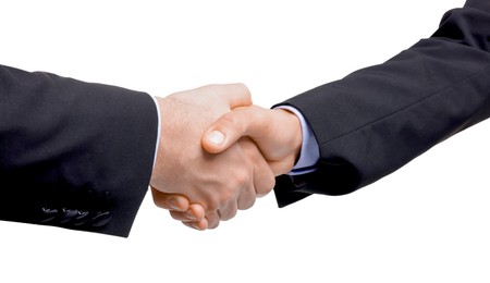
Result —
[[215, 227], [273, 187], [250, 140], [216, 157], [199, 143], [213, 120], [252, 102], [241, 84], [157, 98], [159, 122], [143, 93], [7, 66], [0, 78], [0, 219], [127, 236], [151, 183], [158, 206]]

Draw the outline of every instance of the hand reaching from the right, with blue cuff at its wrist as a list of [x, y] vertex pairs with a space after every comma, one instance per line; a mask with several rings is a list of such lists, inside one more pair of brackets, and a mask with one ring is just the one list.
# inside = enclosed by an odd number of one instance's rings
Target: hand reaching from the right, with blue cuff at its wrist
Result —
[[[201, 142], [207, 151], [219, 153], [243, 136], [248, 136], [255, 142], [274, 175], [285, 174], [292, 170], [303, 142], [301, 123], [294, 113], [257, 106], [236, 108], [224, 114], [209, 126]], [[196, 208], [181, 207], [171, 213], [174, 219], [183, 221], [186, 225], [200, 229], [204, 226], [203, 217], [196, 211]]]

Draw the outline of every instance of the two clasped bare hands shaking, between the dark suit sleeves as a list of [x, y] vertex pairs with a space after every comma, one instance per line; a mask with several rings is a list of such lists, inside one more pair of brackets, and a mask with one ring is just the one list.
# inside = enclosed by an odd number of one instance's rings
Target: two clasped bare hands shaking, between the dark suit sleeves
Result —
[[157, 103], [152, 198], [189, 227], [213, 229], [250, 208], [299, 156], [298, 118], [254, 106], [242, 84], [204, 86]]

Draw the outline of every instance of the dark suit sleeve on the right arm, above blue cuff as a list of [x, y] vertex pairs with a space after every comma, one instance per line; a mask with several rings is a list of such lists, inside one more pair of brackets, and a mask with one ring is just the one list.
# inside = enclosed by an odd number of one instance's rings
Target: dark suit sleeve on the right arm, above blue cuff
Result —
[[315, 173], [278, 177], [280, 207], [392, 173], [490, 115], [490, 1], [467, 1], [430, 38], [284, 104], [311, 126], [320, 161]]

